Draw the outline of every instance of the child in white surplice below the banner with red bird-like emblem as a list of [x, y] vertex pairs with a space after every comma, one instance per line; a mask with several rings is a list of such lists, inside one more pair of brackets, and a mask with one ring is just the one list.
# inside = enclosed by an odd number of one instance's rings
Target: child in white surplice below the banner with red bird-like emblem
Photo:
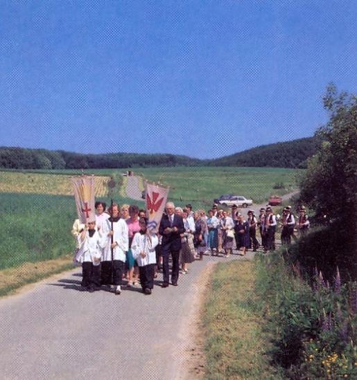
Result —
[[139, 219], [140, 231], [132, 239], [132, 255], [139, 266], [139, 277], [143, 293], [151, 294], [154, 287], [156, 252], [155, 247], [159, 244], [159, 238], [155, 233], [147, 233], [147, 221]]

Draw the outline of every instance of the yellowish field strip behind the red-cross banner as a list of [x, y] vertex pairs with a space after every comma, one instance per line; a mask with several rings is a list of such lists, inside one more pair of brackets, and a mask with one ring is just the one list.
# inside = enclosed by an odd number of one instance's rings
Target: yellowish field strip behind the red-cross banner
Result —
[[[95, 177], [96, 197], [107, 196], [109, 177]], [[33, 172], [0, 172], [0, 192], [72, 195], [69, 177]]]

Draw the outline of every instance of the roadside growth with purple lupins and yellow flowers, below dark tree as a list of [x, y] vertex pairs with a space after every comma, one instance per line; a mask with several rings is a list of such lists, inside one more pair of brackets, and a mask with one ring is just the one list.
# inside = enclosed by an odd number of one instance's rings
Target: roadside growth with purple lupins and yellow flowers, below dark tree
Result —
[[[272, 362], [289, 379], [340, 379], [356, 372], [357, 283], [315, 272], [311, 285], [283, 253], [257, 255], [256, 294], [268, 321]], [[279, 280], [277, 280], [279, 279]]]

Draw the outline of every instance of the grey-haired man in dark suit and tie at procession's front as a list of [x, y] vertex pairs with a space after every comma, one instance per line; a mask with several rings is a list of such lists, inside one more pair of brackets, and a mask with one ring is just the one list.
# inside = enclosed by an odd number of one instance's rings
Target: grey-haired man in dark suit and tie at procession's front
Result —
[[184, 233], [184, 221], [180, 215], [175, 215], [175, 205], [173, 202], [166, 203], [166, 214], [167, 215], [163, 215], [159, 226], [159, 234], [162, 235], [162, 269], [164, 272], [163, 288], [168, 287], [168, 257], [170, 254], [173, 260], [171, 283], [177, 287], [181, 249], [180, 234]]

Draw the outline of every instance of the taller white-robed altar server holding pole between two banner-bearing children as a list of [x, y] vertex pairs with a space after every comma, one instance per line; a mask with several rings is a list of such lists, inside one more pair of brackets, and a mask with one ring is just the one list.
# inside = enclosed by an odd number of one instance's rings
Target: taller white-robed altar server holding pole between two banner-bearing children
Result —
[[[114, 284], [116, 294], [121, 293], [123, 271], [125, 269], [125, 252], [129, 248], [128, 226], [124, 219], [119, 217], [119, 206], [113, 203], [110, 208], [112, 230], [107, 234], [107, 246], [102, 260], [101, 283], [110, 289]], [[112, 241], [113, 237], [113, 242]]]

